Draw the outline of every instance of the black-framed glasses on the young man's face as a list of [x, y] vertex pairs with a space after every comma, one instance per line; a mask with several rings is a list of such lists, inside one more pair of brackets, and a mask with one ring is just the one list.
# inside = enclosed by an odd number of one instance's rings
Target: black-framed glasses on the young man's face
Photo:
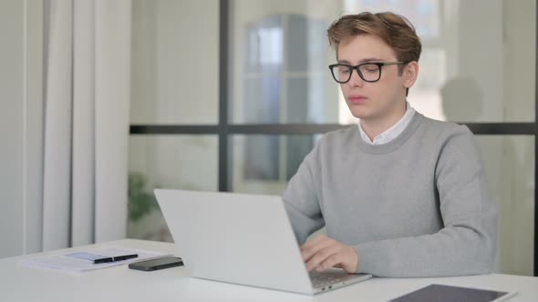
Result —
[[378, 82], [381, 78], [381, 67], [387, 65], [402, 65], [404, 62], [368, 62], [359, 65], [347, 65], [347, 64], [333, 64], [329, 65], [331, 74], [335, 81], [344, 84], [349, 82], [351, 79], [351, 74], [353, 74], [353, 69], [357, 70], [358, 76], [362, 78], [365, 82], [374, 83]]

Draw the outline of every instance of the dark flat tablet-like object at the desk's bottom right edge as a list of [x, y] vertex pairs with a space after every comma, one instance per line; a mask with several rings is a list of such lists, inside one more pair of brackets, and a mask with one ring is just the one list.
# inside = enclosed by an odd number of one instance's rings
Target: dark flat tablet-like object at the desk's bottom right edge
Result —
[[422, 287], [405, 296], [397, 297], [392, 302], [498, 302], [506, 301], [516, 293], [503, 291], [486, 290], [470, 287], [451, 287], [439, 284], [432, 284]]

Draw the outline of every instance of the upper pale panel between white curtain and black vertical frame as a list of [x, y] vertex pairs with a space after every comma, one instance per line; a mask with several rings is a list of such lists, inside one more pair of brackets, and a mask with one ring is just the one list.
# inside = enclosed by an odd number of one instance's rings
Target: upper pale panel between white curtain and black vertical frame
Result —
[[216, 124], [219, 2], [134, 0], [133, 124]]

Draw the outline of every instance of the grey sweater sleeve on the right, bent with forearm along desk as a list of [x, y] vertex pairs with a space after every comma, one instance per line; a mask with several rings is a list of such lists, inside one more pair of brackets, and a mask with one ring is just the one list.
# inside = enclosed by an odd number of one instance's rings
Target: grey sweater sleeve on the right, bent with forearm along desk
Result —
[[[444, 227], [436, 234], [354, 246], [357, 271], [378, 277], [441, 277], [490, 273], [497, 211], [481, 156], [466, 126], [444, 136], [435, 167]], [[442, 137], [442, 136], [441, 136]]]

